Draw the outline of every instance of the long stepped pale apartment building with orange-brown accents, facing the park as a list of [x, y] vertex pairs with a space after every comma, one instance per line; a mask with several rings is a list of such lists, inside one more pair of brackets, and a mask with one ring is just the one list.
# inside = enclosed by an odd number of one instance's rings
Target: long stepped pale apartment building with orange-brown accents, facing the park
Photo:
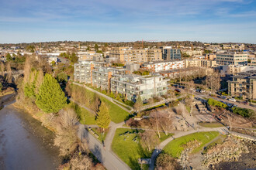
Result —
[[122, 93], [128, 100], [134, 100], [138, 95], [144, 100], [163, 95], [168, 88], [168, 80], [164, 80], [163, 76], [133, 75], [123, 67], [107, 67], [93, 61], [74, 64], [74, 81]]

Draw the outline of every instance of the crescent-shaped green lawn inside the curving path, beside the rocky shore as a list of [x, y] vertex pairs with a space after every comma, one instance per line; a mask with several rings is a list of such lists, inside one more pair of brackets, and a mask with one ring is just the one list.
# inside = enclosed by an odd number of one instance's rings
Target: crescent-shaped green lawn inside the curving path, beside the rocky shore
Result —
[[194, 134], [189, 134], [183, 136], [181, 138], [176, 138], [173, 141], [170, 141], [168, 145], [164, 147], [164, 151], [173, 156], [174, 158], [178, 158], [182, 151], [184, 150], [183, 146], [187, 144], [189, 141], [197, 140], [200, 145], [197, 148], [194, 148], [192, 153], [200, 151], [200, 149], [206, 145], [209, 141], [212, 141], [213, 138], [216, 138], [219, 135], [217, 131], [209, 131], [209, 132], [197, 132]]

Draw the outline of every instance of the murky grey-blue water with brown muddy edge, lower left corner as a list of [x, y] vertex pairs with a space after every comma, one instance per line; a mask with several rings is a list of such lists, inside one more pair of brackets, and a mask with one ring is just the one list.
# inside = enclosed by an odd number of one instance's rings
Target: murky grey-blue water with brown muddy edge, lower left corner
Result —
[[56, 169], [54, 134], [12, 105], [0, 110], [0, 169]]

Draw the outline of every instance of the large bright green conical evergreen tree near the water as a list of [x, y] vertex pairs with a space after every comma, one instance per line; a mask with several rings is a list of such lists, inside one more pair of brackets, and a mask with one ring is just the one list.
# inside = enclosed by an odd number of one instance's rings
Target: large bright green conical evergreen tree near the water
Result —
[[67, 104], [67, 98], [60, 84], [50, 74], [46, 74], [36, 96], [36, 106], [47, 113], [57, 113]]

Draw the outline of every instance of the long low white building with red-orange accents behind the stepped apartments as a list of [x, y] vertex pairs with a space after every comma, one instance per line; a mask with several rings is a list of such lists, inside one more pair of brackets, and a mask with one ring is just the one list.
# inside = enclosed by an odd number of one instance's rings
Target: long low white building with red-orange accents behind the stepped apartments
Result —
[[185, 67], [185, 62], [183, 61], [155, 61], [147, 62], [142, 65], [147, 70], [152, 72], [164, 71], [164, 70], [174, 70], [181, 69]]

